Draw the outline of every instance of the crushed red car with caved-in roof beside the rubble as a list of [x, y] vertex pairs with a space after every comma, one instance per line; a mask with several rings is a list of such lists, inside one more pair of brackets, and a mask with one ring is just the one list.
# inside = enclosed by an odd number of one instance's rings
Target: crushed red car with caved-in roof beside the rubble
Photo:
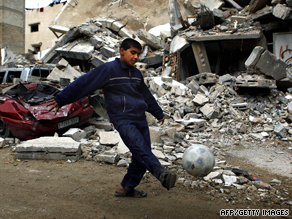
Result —
[[19, 83], [2, 91], [0, 137], [33, 139], [64, 132], [88, 122], [93, 113], [87, 97], [63, 106], [57, 114], [46, 103], [60, 90], [44, 83]]

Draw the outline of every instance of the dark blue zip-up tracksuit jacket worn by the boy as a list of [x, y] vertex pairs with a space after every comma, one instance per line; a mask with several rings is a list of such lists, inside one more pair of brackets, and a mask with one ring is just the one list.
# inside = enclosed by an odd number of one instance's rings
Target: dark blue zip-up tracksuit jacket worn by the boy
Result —
[[82, 75], [54, 98], [59, 107], [102, 89], [110, 121], [143, 119], [145, 111], [157, 119], [164, 114], [144, 83], [141, 72], [119, 58]]

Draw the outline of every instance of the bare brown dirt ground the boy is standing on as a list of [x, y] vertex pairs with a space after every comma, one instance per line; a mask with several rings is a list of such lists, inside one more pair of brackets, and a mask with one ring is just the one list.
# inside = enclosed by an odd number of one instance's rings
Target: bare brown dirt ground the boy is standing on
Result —
[[[230, 158], [229, 162], [236, 162], [266, 182], [277, 178], [283, 184], [290, 183], [288, 192], [292, 194], [291, 179], [255, 168], [241, 158]], [[117, 198], [114, 191], [125, 172], [123, 167], [84, 159], [74, 163], [15, 160], [11, 148], [1, 149], [0, 218], [212, 219], [224, 218], [220, 217], [220, 209], [283, 208], [265, 203], [253, 206], [240, 199], [232, 205], [208, 195], [208, 188], [192, 189], [179, 184], [167, 191], [152, 176], [138, 186], [147, 191], [146, 198]], [[292, 218], [291, 212], [290, 206], [290, 216], [286, 218]]]

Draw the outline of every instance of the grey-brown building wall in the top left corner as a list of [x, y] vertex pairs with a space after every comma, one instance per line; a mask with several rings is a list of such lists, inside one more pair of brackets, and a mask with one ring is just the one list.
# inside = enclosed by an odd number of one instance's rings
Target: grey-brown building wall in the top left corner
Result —
[[24, 53], [25, 0], [0, 0], [0, 45]]

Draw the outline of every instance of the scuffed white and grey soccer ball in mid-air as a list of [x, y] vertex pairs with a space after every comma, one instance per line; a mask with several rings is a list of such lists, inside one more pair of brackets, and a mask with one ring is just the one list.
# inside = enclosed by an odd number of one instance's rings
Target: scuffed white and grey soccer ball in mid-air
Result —
[[215, 165], [212, 151], [202, 144], [192, 144], [182, 158], [184, 169], [193, 176], [206, 176]]

